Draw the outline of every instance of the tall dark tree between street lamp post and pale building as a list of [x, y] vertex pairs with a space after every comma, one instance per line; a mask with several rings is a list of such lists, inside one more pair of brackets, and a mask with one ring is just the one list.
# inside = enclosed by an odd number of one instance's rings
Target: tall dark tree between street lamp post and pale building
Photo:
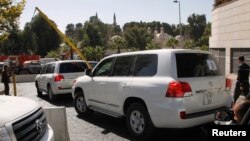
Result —
[[197, 42], [206, 28], [206, 16], [192, 14], [188, 17], [191, 38]]

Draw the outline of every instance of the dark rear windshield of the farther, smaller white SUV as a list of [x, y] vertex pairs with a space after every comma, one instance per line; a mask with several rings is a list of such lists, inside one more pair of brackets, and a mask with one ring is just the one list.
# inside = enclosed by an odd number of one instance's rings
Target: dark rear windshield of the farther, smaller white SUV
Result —
[[59, 73], [84, 72], [87, 65], [83, 62], [61, 63]]

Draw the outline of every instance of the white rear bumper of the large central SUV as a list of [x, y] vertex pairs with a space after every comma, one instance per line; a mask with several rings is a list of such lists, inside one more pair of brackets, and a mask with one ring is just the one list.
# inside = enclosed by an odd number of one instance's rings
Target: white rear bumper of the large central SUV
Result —
[[214, 113], [217, 110], [229, 108], [227, 105], [222, 105], [213, 109], [209, 109], [197, 113], [186, 113], [185, 118], [181, 118], [181, 112], [186, 112], [182, 104], [162, 104], [154, 105], [154, 108], [149, 108], [149, 114], [155, 127], [157, 128], [188, 128], [194, 127], [214, 121]]

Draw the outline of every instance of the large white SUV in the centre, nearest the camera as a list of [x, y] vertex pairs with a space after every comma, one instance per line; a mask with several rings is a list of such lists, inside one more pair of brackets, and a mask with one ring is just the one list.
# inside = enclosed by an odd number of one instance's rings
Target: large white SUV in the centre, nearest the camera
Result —
[[185, 128], [213, 121], [231, 106], [225, 77], [212, 54], [161, 49], [111, 55], [73, 86], [79, 115], [99, 111], [126, 117], [130, 133], [149, 137], [158, 128]]

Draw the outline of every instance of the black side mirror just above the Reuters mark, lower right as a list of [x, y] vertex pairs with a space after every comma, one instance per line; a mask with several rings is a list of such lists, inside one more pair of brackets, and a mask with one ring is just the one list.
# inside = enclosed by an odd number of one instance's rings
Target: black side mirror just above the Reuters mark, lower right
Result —
[[232, 110], [221, 110], [214, 114], [214, 119], [218, 121], [230, 121], [233, 120], [234, 113]]

